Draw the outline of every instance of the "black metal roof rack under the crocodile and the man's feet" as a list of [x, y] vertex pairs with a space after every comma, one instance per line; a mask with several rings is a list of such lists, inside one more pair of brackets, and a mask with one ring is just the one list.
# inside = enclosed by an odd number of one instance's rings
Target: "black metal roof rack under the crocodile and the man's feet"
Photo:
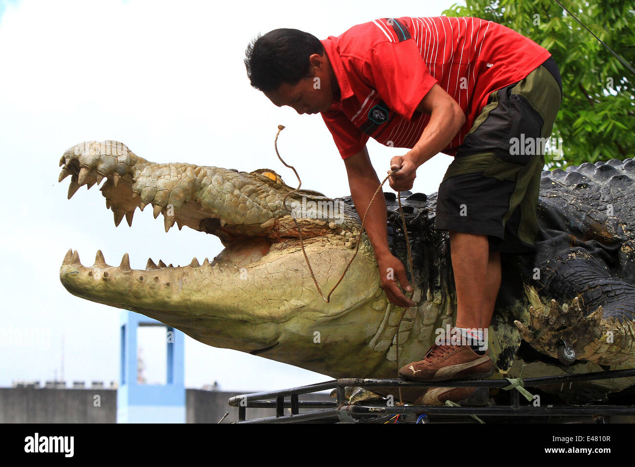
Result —
[[[585, 374], [570, 374], [561, 376], [545, 376], [522, 379], [522, 386], [535, 387], [547, 384], [572, 383], [580, 381], [598, 381], [601, 379], [613, 379], [623, 377], [635, 377], [635, 369], [608, 370]], [[447, 405], [364, 405], [363, 403], [348, 403], [345, 398], [346, 388], [429, 388], [429, 387], [485, 387], [505, 388], [510, 386], [507, 379], [481, 379], [481, 380], [456, 380], [456, 381], [431, 381], [417, 382], [406, 379], [377, 379], [377, 378], [340, 378], [331, 381], [299, 386], [297, 388], [279, 389], [238, 395], [229, 399], [229, 405], [238, 407], [238, 420], [236, 423], [382, 423], [386, 417], [404, 416], [408, 423], [416, 423], [420, 416], [613, 416], [635, 415], [635, 405], [546, 405], [535, 407], [533, 404], [521, 405], [519, 391], [511, 390], [509, 405], [487, 405], [471, 407], [452, 407]], [[336, 402], [324, 401], [300, 401], [298, 395], [316, 393], [327, 389], [337, 389]], [[285, 398], [290, 400], [285, 400]], [[275, 408], [276, 416], [247, 420], [248, 408]], [[285, 414], [284, 409], [291, 409], [291, 414]], [[318, 409], [300, 413], [300, 409]], [[411, 418], [413, 417], [414, 418]]]

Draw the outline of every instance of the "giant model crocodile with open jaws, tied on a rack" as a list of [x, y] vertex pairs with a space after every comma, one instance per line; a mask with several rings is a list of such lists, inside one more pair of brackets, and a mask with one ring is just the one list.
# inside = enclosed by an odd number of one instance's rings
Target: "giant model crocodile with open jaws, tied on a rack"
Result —
[[[60, 182], [70, 175], [69, 199], [83, 185], [101, 184], [116, 226], [123, 217], [131, 225], [135, 210], [151, 205], [155, 218], [164, 216], [166, 232], [176, 223], [214, 234], [225, 247], [211, 262], [194, 258], [173, 267], [149, 259], [145, 269], [131, 269], [127, 253], [110, 266], [101, 251], [83, 266], [69, 250], [60, 280], [77, 297], [142, 313], [210, 346], [333, 378], [395, 377], [455, 319], [450, 243], [434, 229], [436, 194], [401, 193], [417, 303], [404, 310], [387, 301], [365, 234], [330, 302], [314, 286], [293, 217], [316, 280], [330, 290], [361, 228], [350, 196], [294, 191], [269, 169], [153, 163], [116, 141], [78, 144], [60, 166]], [[502, 255], [489, 332], [498, 377], [635, 367], [632, 177], [632, 159], [543, 172], [537, 252]], [[398, 201], [394, 193], [384, 196], [389, 244], [406, 264]], [[634, 378], [620, 378], [547, 390], [585, 402], [633, 388]], [[404, 391], [404, 401], [422, 390]]]

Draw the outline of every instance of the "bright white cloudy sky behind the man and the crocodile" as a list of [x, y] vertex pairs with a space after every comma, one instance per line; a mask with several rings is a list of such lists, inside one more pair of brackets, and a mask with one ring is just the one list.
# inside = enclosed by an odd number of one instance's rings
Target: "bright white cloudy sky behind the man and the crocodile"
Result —
[[[117, 140], [154, 162], [186, 162], [250, 172], [271, 168], [296, 186], [274, 152], [278, 141], [302, 187], [350, 193], [333, 139], [316, 115], [276, 107], [251, 88], [244, 49], [279, 27], [337, 36], [375, 18], [438, 16], [454, 0], [318, 3], [0, 0], [0, 386], [63, 375], [71, 381], [117, 381], [120, 309], [79, 299], [62, 287], [69, 248], [90, 265], [100, 249], [109, 264], [130, 254], [166, 264], [203, 262], [222, 250], [214, 236], [187, 228], [164, 232], [152, 210], [132, 227], [114, 226], [94, 186], [67, 200], [58, 183], [60, 156], [83, 141]], [[407, 150], [370, 140], [380, 180], [392, 156]], [[451, 158], [418, 169], [413, 191], [437, 191]], [[384, 191], [391, 191], [385, 184]], [[146, 342], [147, 341], [147, 342]], [[147, 379], [160, 379], [161, 349], [143, 341]], [[161, 356], [163, 355], [163, 356]], [[163, 366], [164, 369], [164, 366]], [[187, 337], [185, 386], [217, 381], [227, 391], [282, 389], [331, 379], [291, 365]]]

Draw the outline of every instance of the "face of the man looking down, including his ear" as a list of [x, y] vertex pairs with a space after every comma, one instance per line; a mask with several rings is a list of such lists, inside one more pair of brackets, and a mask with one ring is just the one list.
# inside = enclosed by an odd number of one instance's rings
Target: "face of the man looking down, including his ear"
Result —
[[330, 67], [326, 58], [317, 53], [309, 57], [312, 77], [302, 78], [295, 85], [284, 83], [275, 91], [264, 94], [278, 107], [288, 105], [298, 114], [327, 112], [333, 105]]

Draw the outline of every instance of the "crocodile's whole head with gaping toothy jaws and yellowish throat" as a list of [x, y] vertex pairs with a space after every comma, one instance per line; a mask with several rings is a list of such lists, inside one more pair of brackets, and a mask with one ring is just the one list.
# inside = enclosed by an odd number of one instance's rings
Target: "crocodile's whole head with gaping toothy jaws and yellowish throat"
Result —
[[[351, 369], [394, 376], [387, 353], [395, 352], [393, 321], [403, 309], [392, 310], [380, 288], [366, 235], [329, 302], [316, 289], [298, 238], [294, 218], [312, 273], [328, 294], [357, 247], [361, 225], [350, 204], [295, 191], [274, 170], [152, 163], [115, 141], [71, 147], [60, 166], [60, 181], [71, 176], [69, 199], [80, 186], [101, 184], [116, 226], [123, 217], [131, 225], [135, 210], [150, 206], [155, 218], [163, 215], [166, 231], [176, 223], [216, 235], [225, 247], [211, 262], [194, 258], [172, 267], [149, 259], [145, 269], [131, 269], [128, 254], [110, 266], [100, 251], [84, 266], [69, 250], [60, 280], [71, 294], [142, 313], [211, 346], [333, 377], [351, 376]], [[425, 302], [420, 290], [413, 300]], [[401, 346], [406, 336], [399, 334]], [[417, 349], [432, 339], [417, 341]]]

